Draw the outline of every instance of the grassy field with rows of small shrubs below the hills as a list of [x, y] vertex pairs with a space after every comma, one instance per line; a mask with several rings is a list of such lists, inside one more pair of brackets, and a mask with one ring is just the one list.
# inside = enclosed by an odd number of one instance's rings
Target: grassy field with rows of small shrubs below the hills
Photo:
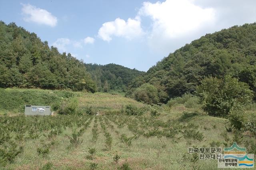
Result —
[[[197, 160], [194, 154], [188, 154], [188, 148], [224, 148], [234, 141], [248, 151], [255, 148], [250, 134], [235, 131], [227, 119], [210, 117], [190, 101], [150, 106], [108, 93], [36, 89], [1, 92], [6, 97], [0, 102], [1, 114], [5, 115], [0, 117], [1, 169], [212, 170], [218, 169], [217, 160]], [[45, 105], [76, 98], [78, 107], [90, 107], [98, 115], [18, 115], [22, 106], [34, 104], [26, 103], [31, 102], [31, 96], [35, 104]], [[15, 101], [12, 103], [19, 109], [7, 101]]]

